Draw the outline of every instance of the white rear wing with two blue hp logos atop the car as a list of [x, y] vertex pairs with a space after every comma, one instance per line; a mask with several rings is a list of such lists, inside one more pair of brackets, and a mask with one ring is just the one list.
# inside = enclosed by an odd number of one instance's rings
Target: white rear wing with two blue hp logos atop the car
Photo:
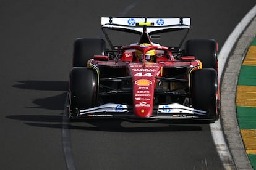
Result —
[[102, 28], [143, 33], [143, 26], [147, 25], [147, 33], [154, 34], [164, 31], [190, 28], [190, 18], [124, 18], [101, 17]]

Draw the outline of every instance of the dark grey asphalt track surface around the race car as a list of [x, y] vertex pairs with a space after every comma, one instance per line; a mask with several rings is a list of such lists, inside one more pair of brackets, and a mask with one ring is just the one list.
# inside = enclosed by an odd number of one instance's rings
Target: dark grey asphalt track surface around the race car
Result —
[[223, 169], [208, 124], [63, 125], [72, 43], [101, 36], [100, 17], [191, 17], [187, 39], [219, 49], [255, 5], [242, 1], [1, 1], [0, 169]]

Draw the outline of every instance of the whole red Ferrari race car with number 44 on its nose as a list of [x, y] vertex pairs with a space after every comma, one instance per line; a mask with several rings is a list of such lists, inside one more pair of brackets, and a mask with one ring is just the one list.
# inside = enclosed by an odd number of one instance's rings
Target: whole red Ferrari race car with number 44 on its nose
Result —
[[[101, 17], [101, 26], [109, 48], [100, 38], [74, 42], [67, 94], [70, 119], [214, 122], [219, 118], [217, 43], [193, 39], [184, 44], [190, 18]], [[135, 34], [138, 39], [115, 46], [107, 30]], [[178, 46], [152, 42], [161, 39], [161, 33], [181, 30], [185, 35]]]

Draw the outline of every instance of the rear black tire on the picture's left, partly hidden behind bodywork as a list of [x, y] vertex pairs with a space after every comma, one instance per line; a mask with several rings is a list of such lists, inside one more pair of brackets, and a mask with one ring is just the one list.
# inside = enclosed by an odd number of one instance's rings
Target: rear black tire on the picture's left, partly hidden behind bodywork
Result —
[[75, 39], [73, 49], [73, 67], [86, 67], [87, 61], [94, 55], [104, 55], [106, 44], [103, 39], [78, 38]]

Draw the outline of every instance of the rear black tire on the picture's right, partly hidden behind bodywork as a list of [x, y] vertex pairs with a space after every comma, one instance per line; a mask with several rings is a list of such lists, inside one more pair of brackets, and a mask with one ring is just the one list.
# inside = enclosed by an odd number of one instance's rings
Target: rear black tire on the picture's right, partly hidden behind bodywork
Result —
[[186, 42], [185, 53], [200, 60], [203, 68], [218, 71], [218, 45], [214, 39], [190, 39]]

